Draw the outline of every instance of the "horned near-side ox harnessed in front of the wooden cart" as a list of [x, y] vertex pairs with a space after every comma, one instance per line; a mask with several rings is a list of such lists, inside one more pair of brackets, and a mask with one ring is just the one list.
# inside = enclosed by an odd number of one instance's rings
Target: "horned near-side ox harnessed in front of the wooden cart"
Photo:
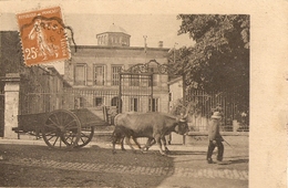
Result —
[[[165, 135], [175, 132], [177, 134], [184, 135], [188, 132], [188, 125], [186, 122], [186, 116], [175, 117], [169, 114], [164, 113], [123, 113], [117, 114], [114, 118], [115, 130], [113, 133], [113, 153], [115, 149], [115, 140], [121, 139], [123, 142], [124, 137], [132, 137], [136, 142], [136, 137], [147, 137], [146, 148], [152, 145], [153, 139], [158, 144], [160, 153], [165, 155], [162, 149], [162, 143], [166, 149]], [[130, 139], [126, 139], [127, 144], [131, 146]], [[137, 144], [138, 145], [138, 144]], [[122, 144], [123, 146], [123, 144]], [[140, 145], [138, 145], [140, 146]], [[132, 146], [131, 146], [132, 147]]]

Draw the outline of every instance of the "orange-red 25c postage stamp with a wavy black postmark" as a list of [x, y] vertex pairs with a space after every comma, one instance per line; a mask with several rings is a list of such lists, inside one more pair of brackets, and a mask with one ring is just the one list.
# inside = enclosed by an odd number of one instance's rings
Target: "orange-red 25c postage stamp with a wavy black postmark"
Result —
[[27, 65], [70, 59], [70, 49], [61, 8], [17, 14]]

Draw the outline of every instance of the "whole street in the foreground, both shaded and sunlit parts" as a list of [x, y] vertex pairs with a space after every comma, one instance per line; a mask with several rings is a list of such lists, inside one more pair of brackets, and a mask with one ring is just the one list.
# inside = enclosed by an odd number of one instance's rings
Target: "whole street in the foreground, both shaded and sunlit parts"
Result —
[[156, 146], [144, 154], [116, 147], [113, 155], [106, 142], [71, 152], [50, 149], [43, 140], [8, 143], [0, 140], [2, 187], [248, 187], [247, 147], [226, 146], [228, 163], [219, 165], [206, 163], [200, 143], [169, 145], [168, 156]]

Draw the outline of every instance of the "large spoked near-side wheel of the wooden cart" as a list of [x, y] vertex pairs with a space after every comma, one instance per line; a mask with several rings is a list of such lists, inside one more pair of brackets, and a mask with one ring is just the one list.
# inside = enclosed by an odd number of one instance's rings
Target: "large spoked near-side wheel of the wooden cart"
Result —
[[48, 115], [42, 127], [42, 136], [49, 147], [70, 149], [76, 146], [81, 134], [81, 123], [70, 111], [56, 109]]

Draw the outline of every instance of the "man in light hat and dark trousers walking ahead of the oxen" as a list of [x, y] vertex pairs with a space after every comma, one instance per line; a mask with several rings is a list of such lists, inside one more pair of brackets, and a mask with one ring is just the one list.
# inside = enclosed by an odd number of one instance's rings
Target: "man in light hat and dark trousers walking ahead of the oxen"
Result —
[[224, 154], [224, 146], [222, 142], [224, 142], [220, 133], [219, 133], [219, 126], [220, 126], [220, 119], [222, 119], [222, 114], [219, 112], [214, 112], [212, 115], [212, 121], [209, 124], [209, 129], [208, 129], [208, 139], [209, 139], [209, 145], [208, 145], [208, 152], [207, 152], [207, 163], [213, 164], [212, 159], [212, 154], [215, 147], [218, 148], [218, 155], [217, 155], [217, 160], [222, 161], [223, 160], [223, 154]]

